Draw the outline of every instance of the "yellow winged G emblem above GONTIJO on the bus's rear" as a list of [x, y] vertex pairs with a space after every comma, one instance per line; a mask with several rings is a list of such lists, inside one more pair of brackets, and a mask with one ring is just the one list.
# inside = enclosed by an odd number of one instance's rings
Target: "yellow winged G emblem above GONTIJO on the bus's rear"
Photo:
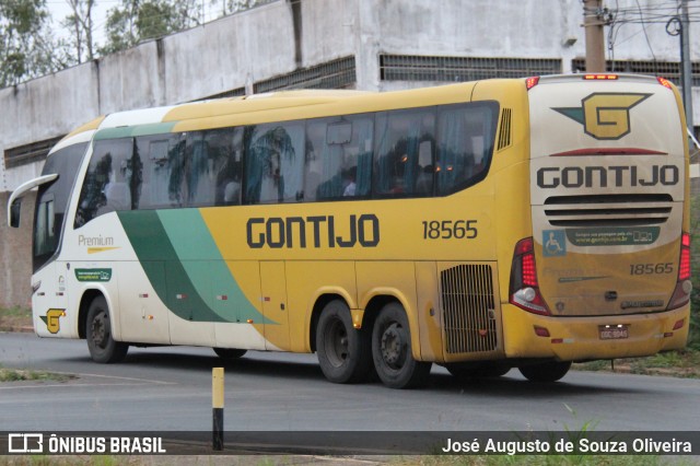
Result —
[[595, 139], [620, 139], [630, 128], [630, 109], [652, 94], [596, 92], [581, 101], [580, 107], [552, 108], [583, 125]]

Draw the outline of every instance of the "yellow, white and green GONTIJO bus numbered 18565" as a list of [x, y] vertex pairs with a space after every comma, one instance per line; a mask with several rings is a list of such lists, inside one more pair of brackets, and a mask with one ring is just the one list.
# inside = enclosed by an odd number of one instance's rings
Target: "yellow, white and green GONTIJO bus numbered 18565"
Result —
[[40, 177], [39, 337], [316, 352], [424, 384], [685, 346], [686, 123], [664, 79], [290, 91], [97, 118]]

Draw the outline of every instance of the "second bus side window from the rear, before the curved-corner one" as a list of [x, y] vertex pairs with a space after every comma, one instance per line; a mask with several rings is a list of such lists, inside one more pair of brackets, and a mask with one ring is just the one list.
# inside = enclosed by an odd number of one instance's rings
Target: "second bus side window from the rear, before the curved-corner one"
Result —
[[433, 193], [435, 108], [383, 112], [376, 117], [374, 194]]

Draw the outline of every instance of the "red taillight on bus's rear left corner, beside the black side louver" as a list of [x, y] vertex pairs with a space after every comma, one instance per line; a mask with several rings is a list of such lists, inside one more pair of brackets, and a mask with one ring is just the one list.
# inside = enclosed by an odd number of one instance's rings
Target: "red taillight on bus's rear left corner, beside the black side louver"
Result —
[[511, 268], [510, 302], [527, 312], [550, 314], [547, 303], [539, 292], [535, 247], [532, 237], [521, 240], [515, 245]]

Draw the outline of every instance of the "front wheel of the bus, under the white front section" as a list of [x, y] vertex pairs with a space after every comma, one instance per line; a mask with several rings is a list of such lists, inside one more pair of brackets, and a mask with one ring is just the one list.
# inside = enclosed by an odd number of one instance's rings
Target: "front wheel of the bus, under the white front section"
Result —
[[116, 341], [112, 336], [109, 307], [104, 296], [97, 296], [90, 303], [85, 339], [93, 361], [100, 363], [121, 362], [127, 356], [129, 345]]

